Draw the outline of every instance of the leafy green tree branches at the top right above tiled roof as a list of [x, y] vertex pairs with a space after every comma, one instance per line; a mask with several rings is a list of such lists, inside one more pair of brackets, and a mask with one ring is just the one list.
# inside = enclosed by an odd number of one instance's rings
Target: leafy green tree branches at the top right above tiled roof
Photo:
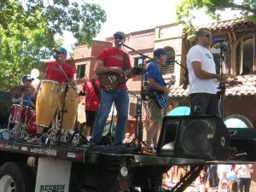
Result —
[[182, 0], [177, 6], [177, 20], [188, 19], [188, 25], [185, 27], [185, 31], [188, 33], [193, 27], [192, 11], [196, 9], [204, 9], [205, 13], [214, 20], [219, 20], [221, 12], [231, 9], [237, 11], [238, 17], [256, 24], [255, 0]]

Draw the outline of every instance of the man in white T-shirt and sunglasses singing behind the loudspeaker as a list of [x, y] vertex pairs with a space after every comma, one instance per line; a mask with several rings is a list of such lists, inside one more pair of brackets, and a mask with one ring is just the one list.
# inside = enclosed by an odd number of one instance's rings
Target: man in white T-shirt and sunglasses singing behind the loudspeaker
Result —
[[[217, 96], [217, 80], [226, 77], [216, 73], [213, 55], [208, 49], [212, 42], [224, 42], [225, 39], [212, 40], [210, 29], [202, 27], [196, 32], [197, 44], [189, 49], [187, 67], [189, 71], [190, 114], [219, 115], [219, 99]], [[222, 115], [222, 114], [221, 114]]]

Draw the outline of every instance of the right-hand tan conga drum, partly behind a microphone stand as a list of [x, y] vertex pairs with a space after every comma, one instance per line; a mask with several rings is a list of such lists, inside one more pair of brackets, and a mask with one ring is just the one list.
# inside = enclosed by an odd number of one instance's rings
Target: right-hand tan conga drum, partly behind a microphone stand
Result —
[[67, 96], [65, 98], [65, 108], [63, 110], [65, 87], [66, 85], [61, 86], [60, 105], [58, 108], [61, 112], [64, 111], [62, 128], [65, 130], [73, 130], [78, 111], [77, 87], [74, 85], [68, 85]]

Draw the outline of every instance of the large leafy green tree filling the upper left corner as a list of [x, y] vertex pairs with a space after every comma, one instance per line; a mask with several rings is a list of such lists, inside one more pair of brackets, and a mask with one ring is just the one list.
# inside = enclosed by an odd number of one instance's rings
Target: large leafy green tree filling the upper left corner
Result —
[[99, 4], [84, 1], [0, 1], [0, 90], [20, 84], [32, 67], [49, 59], [62, 43], [55, 35], [72, 32], [79, 44], [90, 45], [106, 18]]

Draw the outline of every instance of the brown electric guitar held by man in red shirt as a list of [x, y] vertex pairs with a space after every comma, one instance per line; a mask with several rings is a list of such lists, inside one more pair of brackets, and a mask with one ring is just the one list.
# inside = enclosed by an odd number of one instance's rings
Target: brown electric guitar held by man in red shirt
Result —
[[98, 74], [98, 79], [102, 90], [111, 93], [116, 90], [119, 84], [125, 84], [128, 80], [126, 75], [131, 73], [133, 67], [126, 69], [123, 73], [100, 73]]

